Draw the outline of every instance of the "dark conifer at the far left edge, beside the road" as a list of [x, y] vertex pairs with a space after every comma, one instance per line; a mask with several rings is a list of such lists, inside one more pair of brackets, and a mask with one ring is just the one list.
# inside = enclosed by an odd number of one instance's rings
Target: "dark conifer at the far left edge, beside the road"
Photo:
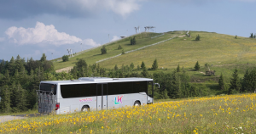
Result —
[[9, 113], [11, 111], [11, 103], [10, 103], [10, 92], [9, 87], [7, 85], [1, 88], [0, 92], [1, 102], [0, 102], [0, 110], [3, 113]]

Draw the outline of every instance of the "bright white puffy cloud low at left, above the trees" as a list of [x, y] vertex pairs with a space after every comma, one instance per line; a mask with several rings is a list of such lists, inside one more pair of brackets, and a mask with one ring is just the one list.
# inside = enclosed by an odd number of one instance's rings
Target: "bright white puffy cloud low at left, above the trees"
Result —
[[82, 41], [79, 37], [70, 36], [65, 32], [58, 32], [54, 25], [44, 25], [41, 22], [37, 22], [35, 28], [25, 29], [12, 26], [5, 31], [5, 34], [9, 36], [11, 42], [20, 45], [44, 43], [60, 46]]

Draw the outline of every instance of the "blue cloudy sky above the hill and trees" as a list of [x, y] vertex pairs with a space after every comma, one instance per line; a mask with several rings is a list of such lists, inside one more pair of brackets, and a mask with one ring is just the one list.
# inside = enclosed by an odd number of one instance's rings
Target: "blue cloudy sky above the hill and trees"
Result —
[[2, 0], [0, 59], [55, 59], [135, 34], [135, 26], [250, 36], [255, 7], [256, 0]]

